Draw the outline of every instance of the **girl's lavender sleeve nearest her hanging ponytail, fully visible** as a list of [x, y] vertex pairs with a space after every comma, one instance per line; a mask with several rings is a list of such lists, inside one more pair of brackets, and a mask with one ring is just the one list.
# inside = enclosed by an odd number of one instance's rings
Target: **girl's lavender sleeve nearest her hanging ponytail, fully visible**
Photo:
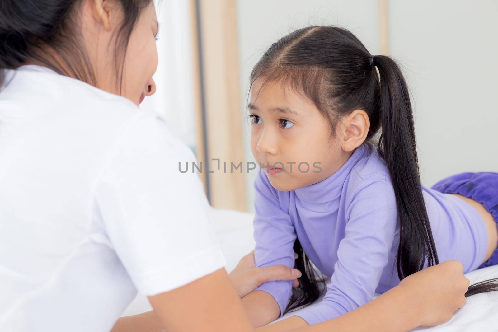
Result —
[[[389, 179], [366, 182], [348, 208], [345, 237], [323, 301], [295, 314], [308, 324], [339, 317], [373, 300], [393, 245], [397, 213]], [[383, 195], [385, 199], [379, 199]]]

